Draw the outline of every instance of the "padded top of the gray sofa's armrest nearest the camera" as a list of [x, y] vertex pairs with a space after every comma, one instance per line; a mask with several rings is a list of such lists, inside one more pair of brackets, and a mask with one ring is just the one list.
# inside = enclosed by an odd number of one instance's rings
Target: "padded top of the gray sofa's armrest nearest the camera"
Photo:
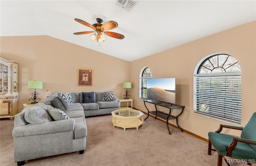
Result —
[[74, 130], [74, 119], [65, 119], [61, 121], [50, 121], [40, 124], [27, 124], [23, 126], [14, 127], [12, 130], [13, 137], [24, 137], [29, 135], [41, 135], [48, 133], [59, 133]]

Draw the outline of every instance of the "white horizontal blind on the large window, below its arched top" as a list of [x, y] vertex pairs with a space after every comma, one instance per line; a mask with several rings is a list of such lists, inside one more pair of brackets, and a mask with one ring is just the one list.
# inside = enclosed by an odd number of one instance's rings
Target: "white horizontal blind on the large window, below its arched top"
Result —
[[197, 112], [241, 121], [241, 72], [195, 74], [194, 78]]

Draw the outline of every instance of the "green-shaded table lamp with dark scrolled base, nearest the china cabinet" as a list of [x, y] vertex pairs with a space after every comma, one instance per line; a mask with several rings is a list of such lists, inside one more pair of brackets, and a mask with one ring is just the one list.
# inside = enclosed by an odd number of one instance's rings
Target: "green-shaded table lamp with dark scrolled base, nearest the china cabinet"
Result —
[[43, 88], [43, 83], [42, 81], [28, 81], [28, 89], [35, 89], [35, 91], [33, 93], [31, 93], [30, 95], [32, 95], [31, 99], [29, 99], [29, 101], [32, 101], [31, 104], [36, 104], [38, 103], [38, 101], [40, 101], [41, 99], [38, 98], [38, 95], [40, 95], [39, 93], [36, 92], [36, 89], [42, 89]]

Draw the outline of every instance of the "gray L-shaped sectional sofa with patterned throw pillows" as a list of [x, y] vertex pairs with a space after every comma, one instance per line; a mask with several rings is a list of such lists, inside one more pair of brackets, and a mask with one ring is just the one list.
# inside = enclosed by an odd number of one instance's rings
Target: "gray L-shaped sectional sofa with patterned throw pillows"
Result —
[[110, 114], [120, 103], [112, 92], [54, 92], [46, 100], [15, 115], [14, 162], [86, 148], [86, 116]]

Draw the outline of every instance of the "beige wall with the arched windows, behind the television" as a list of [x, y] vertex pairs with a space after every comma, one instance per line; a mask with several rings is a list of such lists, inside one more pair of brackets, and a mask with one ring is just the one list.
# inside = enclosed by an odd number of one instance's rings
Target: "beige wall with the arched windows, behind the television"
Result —
[[[196, 135], [208, 138], [208, 131], [215, 131], [219, 124], [224, 122], [194, 114], [194, 70], [198, 62], [207, 55], [226, 53], [238, 60], [242, 70], [242, 126], [244, 126], [256, 111], [255, 24], [256, 21], [253, 21], [131, 62], [130, 78], [134, 84], [132, 98], [135, 100], [135, 107], [146, 111], [143, 101], [138, 98], [138, 78], [143, 67], [148, 66], [151, 69], [153, 78], [176, 77], [176, 101], [177, 104], [185, 105], [184, 113], [179, 119], [180, 126]], [[175, 120], [170, 121], [176, 125]]]

